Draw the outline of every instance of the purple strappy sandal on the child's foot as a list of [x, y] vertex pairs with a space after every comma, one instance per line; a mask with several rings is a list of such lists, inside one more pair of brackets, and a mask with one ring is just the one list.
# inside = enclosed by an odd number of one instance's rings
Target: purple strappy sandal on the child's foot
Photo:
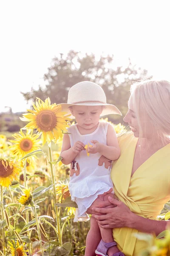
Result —
[[[95, 253], [97, 256], [107, 256], [107, 251], [110, 247], [117, 245], [115, 241], [110, 243], [105, 243], [103, 240], [99, 242], [99, 245], [97, 246], [97, 249], [95, 250]], [[118, 252], [114, 253], [113, 256], [125, 256], [124, 253]]]

